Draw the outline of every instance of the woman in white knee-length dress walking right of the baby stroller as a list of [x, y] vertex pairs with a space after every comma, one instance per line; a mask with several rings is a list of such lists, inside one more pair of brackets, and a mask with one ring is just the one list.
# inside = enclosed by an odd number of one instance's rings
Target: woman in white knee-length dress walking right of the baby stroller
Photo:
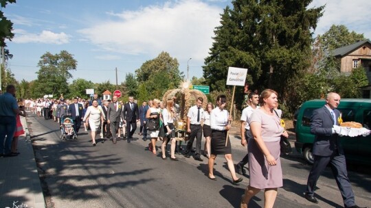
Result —
[[91, 142], [93, 146], [95, 146], [95, 135], [98, 127], [100, 127], [100, 122], [104, 120], [104, 114], [102, 106], [98, 106], [98, 101], [93, 100], [91, 106], [87, 108], [87, 112], [85, 113], [83, 122], [89, 123], [91, 129]]

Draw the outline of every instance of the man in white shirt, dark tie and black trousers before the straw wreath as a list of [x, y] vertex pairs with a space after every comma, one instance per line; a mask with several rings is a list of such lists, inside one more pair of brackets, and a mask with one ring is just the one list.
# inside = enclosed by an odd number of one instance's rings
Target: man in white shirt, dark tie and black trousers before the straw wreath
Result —
[[190, 135], [188, 138], [186, 151], [184, 151], [186, 157], [190, 157], [190, 151], [192, 149], [193, 141], [194, 138], [196, 138], [196, 153], [194, 154], [194, 159], [198, 161], [203, 161], [203, 159], [201, 159], [201, 118], [203, 118], [203, 108], [201, 107], [202, 103], [203, 98], [199, 97], [196, 100], [196, 105], [190, 107], [190, 109], [188, 110], [187, 131]]

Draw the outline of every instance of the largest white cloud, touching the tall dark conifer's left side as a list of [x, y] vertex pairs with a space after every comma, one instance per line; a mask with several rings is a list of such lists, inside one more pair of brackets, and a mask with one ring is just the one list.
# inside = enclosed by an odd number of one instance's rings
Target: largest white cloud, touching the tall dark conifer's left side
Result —
[[79, 32], [105, 51], [150, 56], [167, 51], [178, 59], [201, 61], [212, 47], [221, 12], [197, 0], [167, 2], [119, 14], [106, 12], [116, 20], [95, 22]]

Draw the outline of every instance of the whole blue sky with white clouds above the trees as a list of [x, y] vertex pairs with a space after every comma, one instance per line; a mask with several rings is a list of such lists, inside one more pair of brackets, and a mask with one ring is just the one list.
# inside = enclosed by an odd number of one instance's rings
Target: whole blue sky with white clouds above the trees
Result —
[[[166, 51], [177, 58], [184, 75], [189, 63], [190, 77], [202, 77], [219, 14], [230, 2], [17, 0], [3, 9], [15, 34], [7, 43], [14, 55], [8, 68], [17, 80], [32, 81], [41, 55], [66, 50], [78, 61], [77, 70], [71, 71], [74, 79], [115, 83], [117, 67], [121, 83], [126, 73], [135, 73]], [[314, 0], [310, 7], [325, 3], [315, 34], [342, 24], [371, 38], [371, 1]]]

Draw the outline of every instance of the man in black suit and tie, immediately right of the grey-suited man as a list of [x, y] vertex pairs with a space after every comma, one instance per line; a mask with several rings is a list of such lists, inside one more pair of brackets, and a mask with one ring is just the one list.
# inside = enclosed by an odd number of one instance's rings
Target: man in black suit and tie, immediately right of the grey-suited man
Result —
[[127, 141], [130, 143], [133, 139], [135, 129], [137, 129], [139, 109], [137, 103], [134, 103], [133, 96], [129, 96], [128, 99], [128, 103], [124, 105], [124, 122], [126, 123], [126, 133], [128, 135]]

